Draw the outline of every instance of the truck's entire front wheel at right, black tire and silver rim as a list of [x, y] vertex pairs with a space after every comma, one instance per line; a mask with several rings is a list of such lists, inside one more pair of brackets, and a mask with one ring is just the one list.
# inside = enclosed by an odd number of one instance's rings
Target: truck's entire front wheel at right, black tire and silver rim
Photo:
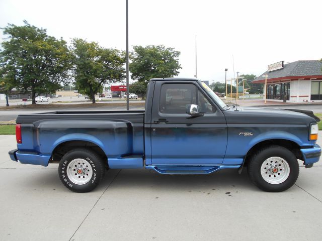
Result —
[[296, 182], [299, 166], [295, 155], [281, 146], [270, 146], [255, 153], [248, 163], [251, 181], [267, 192], [287, 190]]

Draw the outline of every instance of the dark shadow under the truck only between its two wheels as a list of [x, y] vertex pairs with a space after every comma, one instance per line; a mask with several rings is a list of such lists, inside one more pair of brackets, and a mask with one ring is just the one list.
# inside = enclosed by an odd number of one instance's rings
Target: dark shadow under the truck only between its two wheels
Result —
[[[113, 170], [109, 170], [106, 176]], [[106, 185], [107, 178], [101, 183]], [[100, 186], [101, 186], [100, 185]], [[207, 175], [162, 175], [152, 170], [122, 169], [111, 184], [111, 188], [122, 189], [157, 189], [168, 191], [190, 190], [228, 190], [248, 189], [259, 190], [248, 178], [244, 169], [239, 175], [236, 170], [220, 170]], [[189, 191], [188, 190], [188, 191]], [[260, 190], [259, 190], [260, 191]], [[228, 192], [228, 191], [227, 191]]]

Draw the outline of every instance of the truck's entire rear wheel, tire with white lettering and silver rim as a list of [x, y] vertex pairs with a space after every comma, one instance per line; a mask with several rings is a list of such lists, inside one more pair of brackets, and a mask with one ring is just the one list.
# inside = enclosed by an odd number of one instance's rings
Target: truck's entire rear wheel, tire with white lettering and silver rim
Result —
[[102, 181], [105, 167], [100, 156], [85, 148], [67, 152], [60, 160], [61, 182], [73, 192], [90, 192]]

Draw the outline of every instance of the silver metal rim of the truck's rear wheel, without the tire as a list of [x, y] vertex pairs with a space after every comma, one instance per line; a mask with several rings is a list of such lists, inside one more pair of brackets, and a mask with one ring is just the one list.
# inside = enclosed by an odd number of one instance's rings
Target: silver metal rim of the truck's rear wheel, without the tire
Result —
[[88, 183], [93, 175], [91, 164], [84, 159], [74, 159], [67, 166], [67, 176], [74, 184], [83, 185]]

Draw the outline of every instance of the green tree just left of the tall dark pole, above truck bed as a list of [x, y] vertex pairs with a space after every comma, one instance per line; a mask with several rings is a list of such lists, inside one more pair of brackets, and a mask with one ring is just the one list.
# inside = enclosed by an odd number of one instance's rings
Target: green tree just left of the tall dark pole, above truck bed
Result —
[[125, 56], [117, 49], [106, 49], [95, 42], [73, 39], [74, 78], [78, 92], [88, 95], [95, 103], [95, 94], [125, 77]]

